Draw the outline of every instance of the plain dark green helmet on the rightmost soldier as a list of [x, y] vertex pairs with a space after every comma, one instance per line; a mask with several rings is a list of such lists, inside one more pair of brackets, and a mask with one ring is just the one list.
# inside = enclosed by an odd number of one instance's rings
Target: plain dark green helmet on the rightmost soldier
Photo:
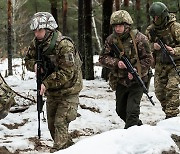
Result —
[[155, 16], [158, 16], [158, 20], [154, 21], [155, 25], [163, 25], [167, 21], [169, 10], [164, 3], [154, 2], [149, 8], [149, 14], [153, 19]]

